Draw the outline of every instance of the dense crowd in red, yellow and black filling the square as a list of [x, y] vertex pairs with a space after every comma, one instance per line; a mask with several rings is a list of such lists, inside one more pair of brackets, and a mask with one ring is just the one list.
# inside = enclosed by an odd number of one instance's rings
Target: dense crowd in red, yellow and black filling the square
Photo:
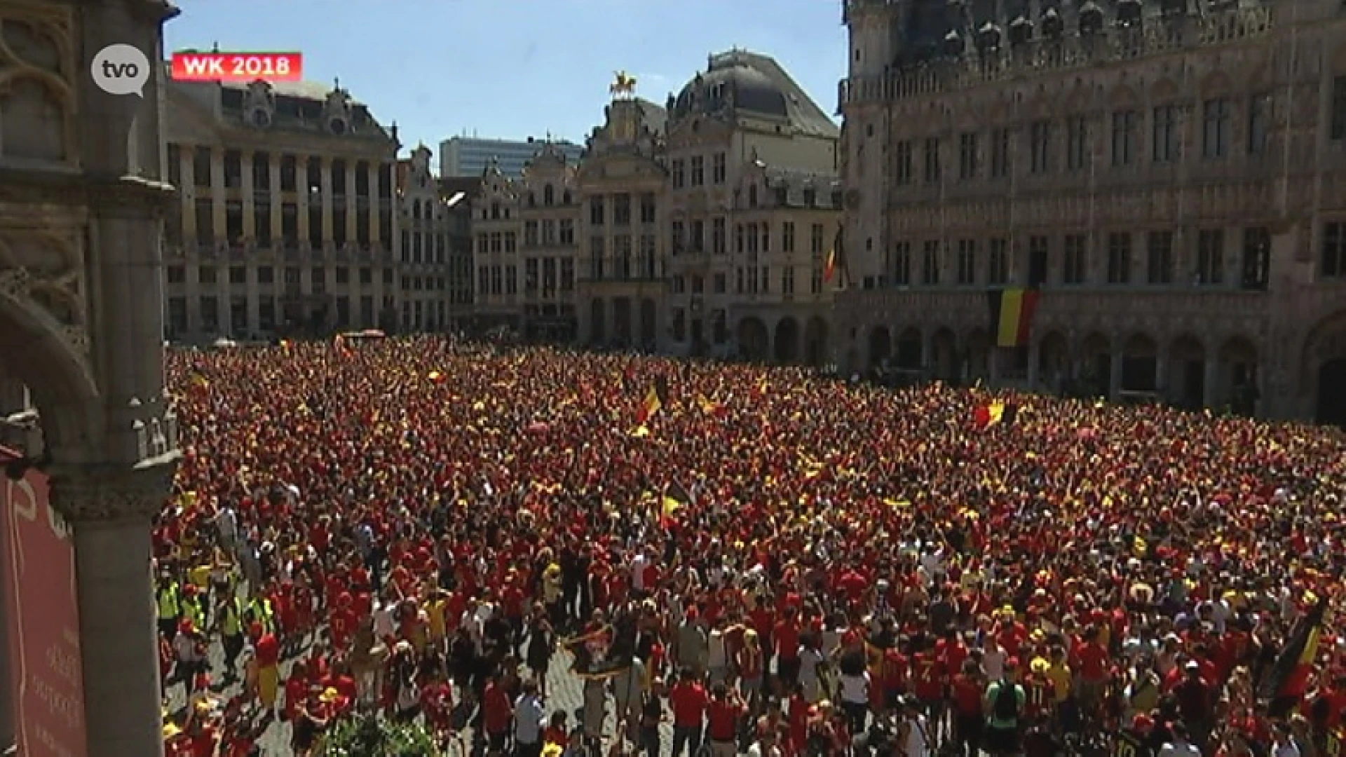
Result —
[[432, 337], [170, 378], [170, 753], [1339, 753], [1339, 431]]

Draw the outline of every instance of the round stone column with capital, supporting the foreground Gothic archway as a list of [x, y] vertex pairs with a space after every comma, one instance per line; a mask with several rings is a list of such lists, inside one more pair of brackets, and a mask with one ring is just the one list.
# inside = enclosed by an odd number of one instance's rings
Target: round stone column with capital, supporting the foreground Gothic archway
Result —
[[151, 519], [172, 465], [52, 471], [74, 531], [87, 757], [163, 754]]

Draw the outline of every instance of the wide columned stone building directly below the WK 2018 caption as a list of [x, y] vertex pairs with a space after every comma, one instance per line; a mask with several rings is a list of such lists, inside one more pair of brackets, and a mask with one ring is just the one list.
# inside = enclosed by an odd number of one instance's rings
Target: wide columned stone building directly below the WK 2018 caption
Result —
[[170, 82], [167, 337], [400, 323], [396, 129], [339, 86]]

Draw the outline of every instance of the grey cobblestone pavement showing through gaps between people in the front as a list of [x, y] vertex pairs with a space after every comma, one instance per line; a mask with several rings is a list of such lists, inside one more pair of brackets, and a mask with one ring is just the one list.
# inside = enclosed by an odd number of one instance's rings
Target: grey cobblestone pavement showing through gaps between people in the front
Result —
[[[304, 649], [304, 652], [300, 653], [300, 656], [303, 656], [303, 653], [307, 653], [307, 648]], [[565, 651], [560, 651], [552, 657], [552, 667], [546, 675], [546, 695], [548, 695], [546, 714], [548, 717], [551, 717], [552, 713], [556, 711], [567, 713], [567, 715], [569, 715], [569, 725], [573, 727], [575, 725], [577, 725], [575, 719], [575, 711], [580, 709], [580, 706], [584, 703], [584, 682], [573, 672], [571, 672], [571, 659], [572, 659], [571, 653]], [[293, 660], [295, 657], [291, 657], [281, 664], [281, 682], [284, 682], [285, 676], [289, 675], [289, 668], [293, 664]], [[210, 663], [211, 663], [211, 680], [213, 682], [222, 680], [225, 669], [225, 653], [218, 640], [210, 644]], [[241, 692], [241, 684], [233, 683], [230, 686], [221, 687], [217, 683], [213, 691], [215, 692], [217, 698], [229, 699]], [[284, 694], [281, 696], [284, 696]], [[455, 702], [459, 699], [458, 691], [454, 692], [454, 698]], [[167, 706], [170, 713], [180, 713], [187, 706], [182, 684], [175, 684], [171, 687], [170, 695], [167, 698]], [[611, 738], [616, 730], [615, 727], [616, 718], [614, 710], [615, 704], [612, 703], [612, 698], [608, 696], [607, 721], [603, 729], [603, 734], [606, 737], [603, 741], [604, 746], [611, 744]], [[668, 754], [672, 745], [673, 729], [670, 725], [665, 723], [661, 730], [662, 730], [664, 753]], [[467, 753], [467, 748], [470, 746], [470, 744], [471, 744], [471, 731], [467, 730], [460, 733], [459, 737], [455, 739], [455, 742], [451, 744], [448, 756], [462, 757], [463, 754]], [[291, 754], [292, 752], [289, 749], [289, 725], [283, 723], [280, 721], [273, 722], [261, 741], [261, 749], [264, 757], [281, 757]]]

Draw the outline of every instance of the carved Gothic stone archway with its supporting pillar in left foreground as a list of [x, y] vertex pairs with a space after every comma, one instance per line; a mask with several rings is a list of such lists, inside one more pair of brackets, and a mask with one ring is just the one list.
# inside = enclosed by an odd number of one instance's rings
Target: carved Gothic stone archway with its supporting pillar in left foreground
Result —
[[[0, 360], [34, 395], [50, 501], [73, 539], [78, 628], [61, 636], [78, 637], [62, 652], [78, 660], [85, 744], [62, 746], [87, 757], [163, 753], [149, 525], [176, 450], [163, 387], [160, 244], [172, 193], [156, 180], [162, 71], [151, 67], [143, 98], [110, 96], [78, 55], [122, 43], [160, 59], [174, 12], [149, 1], [0, 8], [0, 26], [26, 32], [7, 36], [17, 59], [0, 65], [0, 155], [24, 166], [0, 179]], [[166, 434], [143, 450], [137, 426]]]

